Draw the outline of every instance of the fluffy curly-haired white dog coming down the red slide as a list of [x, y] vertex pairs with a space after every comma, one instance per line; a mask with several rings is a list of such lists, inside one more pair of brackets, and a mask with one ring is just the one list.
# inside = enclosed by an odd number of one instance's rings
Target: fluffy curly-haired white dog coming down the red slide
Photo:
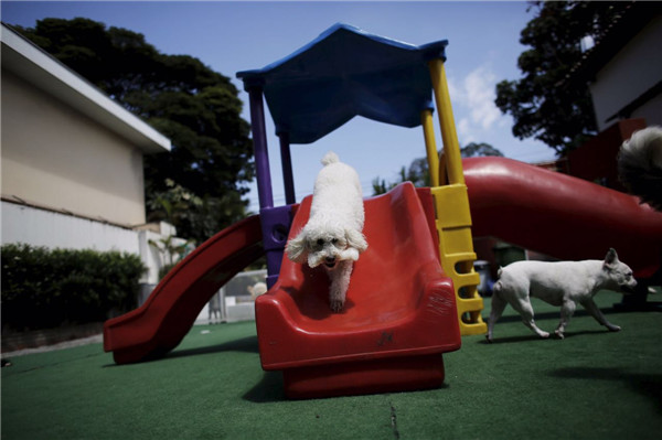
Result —
[[340, 312], [359, 254], [367, 249], [363, 236], [363, 195], [356, 171], [330, 151], [312, 192], [310, 217], [285, 248], [289, 259], [314, 268], [322, 265], [331, 279], [329, 303]]

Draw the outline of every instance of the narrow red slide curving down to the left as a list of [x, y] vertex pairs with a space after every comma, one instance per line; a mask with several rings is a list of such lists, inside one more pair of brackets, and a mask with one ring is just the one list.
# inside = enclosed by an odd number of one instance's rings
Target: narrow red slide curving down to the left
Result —
[[212, 296], [261, 255], [259, 216], [223, 229], [175, 266], [145, 304], [106, 322], [104, 351], [113, 352], [118, 364], [164, 355], [181, 342]]

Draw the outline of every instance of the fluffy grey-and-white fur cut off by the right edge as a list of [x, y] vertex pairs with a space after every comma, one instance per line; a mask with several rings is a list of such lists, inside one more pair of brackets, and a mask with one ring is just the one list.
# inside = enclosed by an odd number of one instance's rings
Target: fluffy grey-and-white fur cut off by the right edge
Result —
[[618, 173], [628, 191], [662, 212], [662, 127], [636, 131], [623, 142]]

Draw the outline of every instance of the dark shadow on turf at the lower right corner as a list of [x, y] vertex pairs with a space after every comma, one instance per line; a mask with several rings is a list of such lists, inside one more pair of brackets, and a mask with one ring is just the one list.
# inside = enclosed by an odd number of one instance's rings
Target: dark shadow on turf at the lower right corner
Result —
[[622, 382], [633, 391], [652, 399], [662, 412], [662, 374], [632, 374], [616, 367], [565, 367], [548, 374], [562, 379]]

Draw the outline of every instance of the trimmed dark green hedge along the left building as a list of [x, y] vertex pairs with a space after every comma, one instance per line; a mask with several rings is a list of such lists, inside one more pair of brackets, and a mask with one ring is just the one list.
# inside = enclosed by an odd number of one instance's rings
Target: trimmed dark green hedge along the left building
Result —
[[2, 246], [2, 326], [35, 330], [105, 321], [136, 307], [146, 268], [119, 251]]

